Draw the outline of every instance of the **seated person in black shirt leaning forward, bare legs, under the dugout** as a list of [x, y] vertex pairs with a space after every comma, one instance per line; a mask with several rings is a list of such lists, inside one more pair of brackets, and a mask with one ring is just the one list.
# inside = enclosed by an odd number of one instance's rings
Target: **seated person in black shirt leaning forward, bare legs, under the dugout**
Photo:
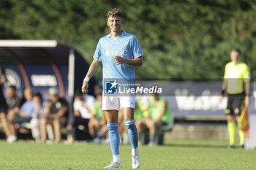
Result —
[[56, 88], [49, 89], [49, 100], [45, 104], [45, 109], [40, 123], [41, 141], [46, 142], [46, 125], [53, 125], [56, 142], [61, 142], [61, 128], [67, 123], [68, 104], [65, 98], [59, 97]]

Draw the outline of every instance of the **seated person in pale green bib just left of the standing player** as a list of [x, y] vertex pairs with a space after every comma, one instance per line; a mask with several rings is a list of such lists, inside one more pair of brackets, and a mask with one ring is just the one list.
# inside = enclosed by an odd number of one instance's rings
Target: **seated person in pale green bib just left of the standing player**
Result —
[[90, 134], [96, 136], [95, 143], [99, 143], [100, 140], [106, 136], [108, 132], [107, 122], [105, 115], [102, 112], [102, 91], [96, 94], [97, 101], [94, 104], [94, 108], [91, 110], [92, 117], [89, 120]]

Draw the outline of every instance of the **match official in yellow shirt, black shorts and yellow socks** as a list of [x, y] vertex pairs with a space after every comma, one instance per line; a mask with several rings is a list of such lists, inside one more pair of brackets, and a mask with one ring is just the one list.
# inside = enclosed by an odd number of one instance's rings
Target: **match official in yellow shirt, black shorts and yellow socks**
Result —
[[[241, 50], [233, 49], [230, 53], [231, 62], [225, 66], [224, 81], [222, 84], [222, 101], [225, 90], [228, 93], [227, 128], [230, 136], [230, 143], [227, 148], [235, 147], [236, 143], [236, 122], [239, 123], [241, 110], [244, 105], [249, 106], [250, 102], [250, 72], [246, 63], [241, 61]], [[245, 95], [245, 96], [244, 96]], [[244, 132], [239, 130], [240, 146], [244, 148]]]

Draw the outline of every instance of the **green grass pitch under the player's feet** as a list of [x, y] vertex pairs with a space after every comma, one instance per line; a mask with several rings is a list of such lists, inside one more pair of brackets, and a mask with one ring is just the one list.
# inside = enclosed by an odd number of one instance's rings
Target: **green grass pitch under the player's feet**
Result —
[[[169, 139], [165, 146], [139, 147], [140, 169], [256, 169], [256, 150], [225, 149], [227, 141]], [[131, 169], [130, 146], [121, 146], [122, 169]], [[102, 169], [109, 145], [0, 142], [0, 169]]]

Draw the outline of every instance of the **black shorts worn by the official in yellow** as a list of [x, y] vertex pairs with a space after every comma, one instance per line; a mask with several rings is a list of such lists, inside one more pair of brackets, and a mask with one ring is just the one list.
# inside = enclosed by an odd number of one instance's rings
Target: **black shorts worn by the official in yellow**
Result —
[[244, 93], [228, 94], [227, 96], [227, 115], [241, 115], [241, 108], [244, 106]]

